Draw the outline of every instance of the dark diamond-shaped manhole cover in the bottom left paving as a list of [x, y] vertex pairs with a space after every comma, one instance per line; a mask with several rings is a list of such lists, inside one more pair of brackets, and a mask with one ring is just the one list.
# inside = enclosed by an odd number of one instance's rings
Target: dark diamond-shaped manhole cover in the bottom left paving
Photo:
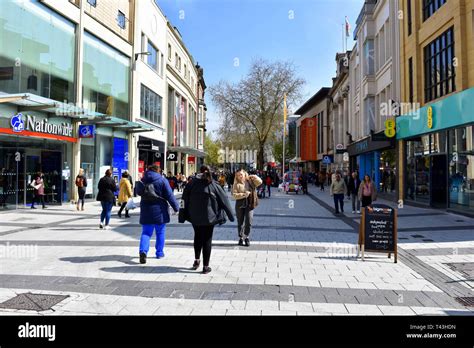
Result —
[[0, 308], [26, 309], [30, 311], [45, 311], [68, 298], [68, 295], [19, 294], [5, 302]]

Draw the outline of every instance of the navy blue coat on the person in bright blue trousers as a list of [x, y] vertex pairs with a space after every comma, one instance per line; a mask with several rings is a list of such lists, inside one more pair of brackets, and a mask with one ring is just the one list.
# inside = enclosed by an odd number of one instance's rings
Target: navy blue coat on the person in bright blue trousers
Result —
[[[155, 192], [158, 196], [164, 198], [173, 208], [175, 212], [179, 210], [179, 204], [174, 197], [168, 180], [154, 171], [147, 171], [142, 179], [143, 184], [153, 183]], [[137, 194], [142, 195], [144, 185], [137, 185]], [[170, 222], [168, 213], [168, 203], [160, 199], [154, 203], [140, 203], [140, 224], [142, 225], [161, 225]]]

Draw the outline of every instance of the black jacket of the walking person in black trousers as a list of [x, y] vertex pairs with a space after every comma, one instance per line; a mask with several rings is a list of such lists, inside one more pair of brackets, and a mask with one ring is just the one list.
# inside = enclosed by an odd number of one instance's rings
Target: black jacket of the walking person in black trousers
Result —
[[[213, 198], [214, 197], [214, 198]], [[212, 181], [210, 184], [196, 176], [186, 185], [183, 192], [186, 220], [195, 226], [214, 226], [225, 223], [225, 214], [234, 221], [232, 207], [222, 187]]]

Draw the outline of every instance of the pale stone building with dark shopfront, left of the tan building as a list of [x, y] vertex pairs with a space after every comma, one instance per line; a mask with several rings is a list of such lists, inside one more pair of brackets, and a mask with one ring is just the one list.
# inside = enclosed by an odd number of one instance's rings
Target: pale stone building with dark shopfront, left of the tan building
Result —
[[348, 146], [350, 169], [368, 174], [376, 187], [396, 198], [395, 139], [385, 121], [400, 101], [398, 1], [366, 0], [356, 22], [350, 58]]

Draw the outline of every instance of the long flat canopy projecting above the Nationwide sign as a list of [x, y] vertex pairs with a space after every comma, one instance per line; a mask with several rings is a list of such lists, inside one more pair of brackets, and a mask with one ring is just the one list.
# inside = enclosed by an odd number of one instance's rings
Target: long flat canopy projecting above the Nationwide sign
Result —
[[132, 122], [119, 117], [109, 116], [90, 111], [72, 103], [67, 104], [31, 93], [1, 94], [0, 103], [18, 105], [18, 112], [42, 111], [54, 113], [57, 116], [69, 117], [82, 124], [108, 126], [129, 133], [150, 132], [158, 128], [140, 122]]

